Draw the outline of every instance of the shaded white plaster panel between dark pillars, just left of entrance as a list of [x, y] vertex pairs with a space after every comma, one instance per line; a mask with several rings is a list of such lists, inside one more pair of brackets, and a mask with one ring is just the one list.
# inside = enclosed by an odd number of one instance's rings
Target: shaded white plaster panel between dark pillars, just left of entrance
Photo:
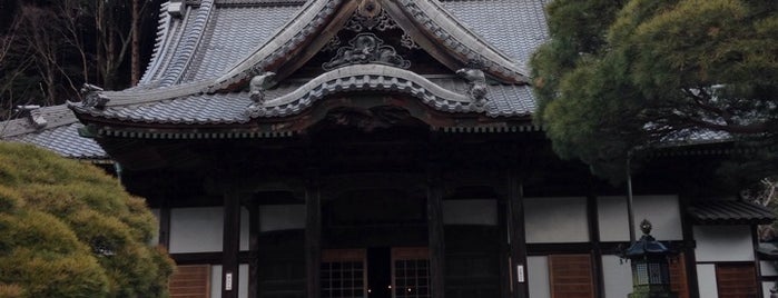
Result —
[[305, 205], [259, 206], [259, 230], [305, 229]]

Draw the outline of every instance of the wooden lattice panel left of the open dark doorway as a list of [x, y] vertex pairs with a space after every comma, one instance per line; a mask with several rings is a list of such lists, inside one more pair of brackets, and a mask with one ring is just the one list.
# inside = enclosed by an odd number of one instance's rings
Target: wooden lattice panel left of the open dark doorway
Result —
[[364, 250], [325, 250], [321, 274], [322, 298], [367, 297]]

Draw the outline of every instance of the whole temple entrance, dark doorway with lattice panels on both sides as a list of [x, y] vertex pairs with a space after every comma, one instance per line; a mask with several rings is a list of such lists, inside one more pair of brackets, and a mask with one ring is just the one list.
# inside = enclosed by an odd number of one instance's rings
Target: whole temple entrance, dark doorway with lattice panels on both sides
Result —
[[430, 297], [426, 248], [325, 250], [321, 275], [323, 298]]

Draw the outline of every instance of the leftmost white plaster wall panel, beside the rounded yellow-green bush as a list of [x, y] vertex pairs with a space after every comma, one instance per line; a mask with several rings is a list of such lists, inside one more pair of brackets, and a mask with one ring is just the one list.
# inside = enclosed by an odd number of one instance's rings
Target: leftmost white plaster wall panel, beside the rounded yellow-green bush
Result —
[[170, 252], [221, 251], [224, 208], [170, 210]]

